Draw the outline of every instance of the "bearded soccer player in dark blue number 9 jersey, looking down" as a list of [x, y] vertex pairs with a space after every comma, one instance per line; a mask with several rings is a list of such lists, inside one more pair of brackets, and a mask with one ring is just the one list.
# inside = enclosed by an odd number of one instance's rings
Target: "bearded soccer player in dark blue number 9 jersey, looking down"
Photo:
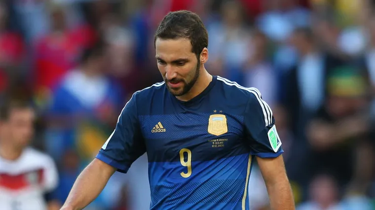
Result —
[[207, 72], [200, 18], [168, 13], [154, 44], [164, 82], [133, 94], [63, 209], [84, 208], [116, 170], [126, 173], [147, 152], [152, 210], [247, 210], [255, 159], [272, 209], [294, 210], [272, 111], [257, 89]]

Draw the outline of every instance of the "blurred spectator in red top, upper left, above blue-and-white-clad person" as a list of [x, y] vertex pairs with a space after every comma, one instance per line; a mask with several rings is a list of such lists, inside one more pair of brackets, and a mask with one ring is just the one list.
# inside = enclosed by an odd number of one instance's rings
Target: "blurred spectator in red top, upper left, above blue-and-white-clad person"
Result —
[[40, 105], [51, 97], [51, 92], [65, 73], [75, 67], [83, 48], [91, 46], [96, 39], [90, 27], [68, 27], [63, 5], [51, 3], [48, 8], [51, 31], [35, 43], [33, 77]]

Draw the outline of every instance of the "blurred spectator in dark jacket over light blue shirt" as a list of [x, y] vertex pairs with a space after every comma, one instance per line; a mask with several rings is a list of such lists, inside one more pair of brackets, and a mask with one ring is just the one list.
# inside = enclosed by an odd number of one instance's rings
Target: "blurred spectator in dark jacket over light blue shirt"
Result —
[[283, 104], [294, 119], [292, 129], [300, 135], [300, 126], [310, 119], [325, 100], [327, 75], [344, 63], [336, 56], [321, 51], [315, 45], [313, 33], [308, 28], [294, 31], [293, 46], [299, 53], [298, 63], [285, 72]]

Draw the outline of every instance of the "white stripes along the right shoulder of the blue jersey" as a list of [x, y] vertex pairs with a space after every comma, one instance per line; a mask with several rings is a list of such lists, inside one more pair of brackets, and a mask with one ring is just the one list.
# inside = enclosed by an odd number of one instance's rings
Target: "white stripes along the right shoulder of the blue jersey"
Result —
[[217, 76], [217, 80], [220, 80], [220, 81], [224, 82], [228, 86], [234, 86], [238, 89], [247, 90], [247, 91], [253, 93], [255, 95], [255, 97], [258, 99], [258, 102], [262, 107], [265, 126], [268, 126], [269, 124], [272, 123], [272, 111], [269, 108], [268, 104], [262, 99], [261, 92], [258, 89], [256, 89], [256, 88], [245, 88], [243, 86], [238, 85], [238, 83], [236, 83], [236, 82], [232, 82], [232, 81], [230, 81], [228, 79], [225, 79], [223, 77], [220, 77], [220, 76]]

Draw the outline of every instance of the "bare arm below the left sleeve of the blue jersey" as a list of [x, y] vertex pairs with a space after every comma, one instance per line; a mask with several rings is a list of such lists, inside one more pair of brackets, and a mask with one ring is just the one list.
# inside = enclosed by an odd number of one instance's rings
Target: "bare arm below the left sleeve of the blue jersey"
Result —
[[115, 169], [94, 159], [78, 176], [62, 210], [81, 210], [103, 190]]

